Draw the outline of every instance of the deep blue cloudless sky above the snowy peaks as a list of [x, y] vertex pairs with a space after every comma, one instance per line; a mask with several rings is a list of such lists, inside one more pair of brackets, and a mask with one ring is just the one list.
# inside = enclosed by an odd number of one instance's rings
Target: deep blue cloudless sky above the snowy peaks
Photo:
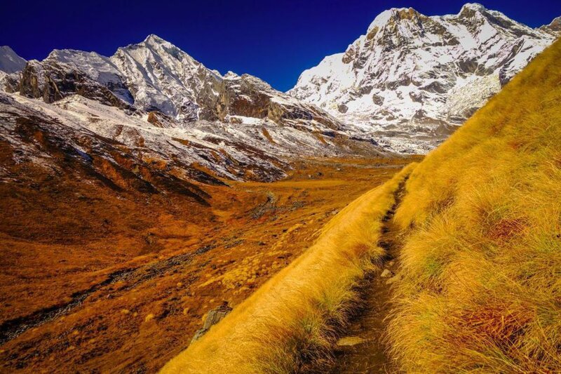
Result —
[[[458, 13], [442, 0], [0, 0], [0, 45], [26, 59], [53, 48], [112, 55], [157, 34], [211, 69], [250, 73], [286, 91], [325, 55], [342, 52], [387, 8]], [[561, 15], [561, 0], [488, 0], [485, 7], [536, 27]]]

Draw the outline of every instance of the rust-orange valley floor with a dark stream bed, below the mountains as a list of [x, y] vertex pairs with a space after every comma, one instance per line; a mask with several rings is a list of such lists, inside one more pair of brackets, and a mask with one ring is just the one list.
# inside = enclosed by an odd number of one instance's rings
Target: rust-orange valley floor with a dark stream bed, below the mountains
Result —
[[2, 184], [1, 370], [155, 372], [411, 161], [295, 161], [278, 182], [202, 187], [210, 206]]

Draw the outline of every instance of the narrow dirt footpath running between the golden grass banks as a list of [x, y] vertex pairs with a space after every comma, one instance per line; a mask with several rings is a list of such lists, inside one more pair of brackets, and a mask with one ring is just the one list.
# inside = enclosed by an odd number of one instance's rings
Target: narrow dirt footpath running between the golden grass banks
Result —
[[343, 338], [337, 342], [335, 362], [330, 370], [339, 373], [396, 373], [398, 368], [386, 354], [384, 330], [386, 317], [391, 310], [391, 284], [398, 280], [396, 259], [400, 250], [398, 227], [393, 215], [403, 197], [404, 180], [394, 196], [396, 203], [382, 219], [381, 236], [378, 245], [384, 248], [381, 271], [367, 279], [364, 289], [364, 307], [351, 320], [351, 325]]

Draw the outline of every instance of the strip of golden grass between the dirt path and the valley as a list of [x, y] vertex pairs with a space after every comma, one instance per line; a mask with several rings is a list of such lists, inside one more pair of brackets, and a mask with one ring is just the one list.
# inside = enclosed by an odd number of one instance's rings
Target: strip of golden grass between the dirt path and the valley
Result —
[[328, 361], [334, 329], [384, 251], [381, 218], [413, 166], [339, 212], [316, 243], [264, 284], [162, 373], [290, 373]]

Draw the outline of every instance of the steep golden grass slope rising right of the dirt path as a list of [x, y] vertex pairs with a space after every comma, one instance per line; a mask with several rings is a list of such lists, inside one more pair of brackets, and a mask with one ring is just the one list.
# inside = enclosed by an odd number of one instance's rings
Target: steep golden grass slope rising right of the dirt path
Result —
[[410, 373], [561, 372], [561, 41], [413, 171], [390, 340]]

